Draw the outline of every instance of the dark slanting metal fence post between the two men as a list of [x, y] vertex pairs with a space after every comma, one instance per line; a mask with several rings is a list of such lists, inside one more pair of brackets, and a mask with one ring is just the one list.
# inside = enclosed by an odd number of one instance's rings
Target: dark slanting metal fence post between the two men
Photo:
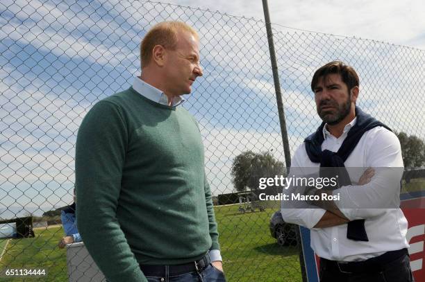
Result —
[[[279, 123], [281, 125], [283, 152], [285, 153], [286, 170], [287, 170], [287, 173], [289, 173], [289, 168], [291, 166], [291, 153], [290, 153], [290, 148], [289, 148], [288, 132], [286, 131], [286, 121], [285, 121], [285, 112], [283, 110], [281, 84], [279, 82], [278, 67], [277, 67], [277, 62], [276, 62], [276, 53], [274, 51], [272, 24], [271, 24], [271, 21], [270, 21], [269, 5], [267, 3], [267, 0], [263, 0], [263, 10], [264, 10], [265, 26], [266, 26], [266, 30], [267, 30], [267, 41], [269, 42], [270, 60], [272, 62], [274, 91], [276, 92], [276, 103], [277, 103], [277, 106], [278, 106]], [[307, 282], [306, 263], [304, 262], [303, 247], [302, 247], [302, 244], [301, 244], [301, 234], [300, 234], [299, 227], [296, 230], [297, 230], [297, 242], [298, 242], [297, 245], [298, 245], [298, 249], [299, 249], [299, 264], [300, 264], [300, 267], [301, 267], [301, 276], [303, 278], [303, 281]]]

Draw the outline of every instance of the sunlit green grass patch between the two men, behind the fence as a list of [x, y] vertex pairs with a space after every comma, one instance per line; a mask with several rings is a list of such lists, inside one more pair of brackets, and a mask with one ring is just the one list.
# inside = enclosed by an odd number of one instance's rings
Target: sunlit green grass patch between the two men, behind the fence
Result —
[[228, 281], [301, 281], [297, 247], [281, 247], [270, 236], [277, 209], [243, 214], [237, 205], [215, 208]]

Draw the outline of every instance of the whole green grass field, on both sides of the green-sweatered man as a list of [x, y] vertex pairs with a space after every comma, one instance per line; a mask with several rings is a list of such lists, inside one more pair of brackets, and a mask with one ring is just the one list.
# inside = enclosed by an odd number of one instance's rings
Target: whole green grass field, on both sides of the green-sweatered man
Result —
[[[281, 247], [270, 236], [269, 218], [276, 209], [242, 214], [237, 205], [215, 208], [228, 281], [301, 281], [297, 247]], [[47, 276], [26, 281], [67, 281], [66, 250], [57, 247], [62, 236], [62, 227], [50, 227], [35, 229], [35, 238], [10, 240], [0, 270], [44, 268]]]

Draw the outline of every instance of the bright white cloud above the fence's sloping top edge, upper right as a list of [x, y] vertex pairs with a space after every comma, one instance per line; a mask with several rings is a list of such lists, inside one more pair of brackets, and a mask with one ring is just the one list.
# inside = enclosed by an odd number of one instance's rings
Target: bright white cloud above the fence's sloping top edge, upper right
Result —
[[[230, 15], [264, 19], [261, 1], [256, 0], [163, 0], [182, 6], [219, 10]], [[425, 3], [404, 1], [292, 1], [270, 0], [273, 24], [335, 35], [376, 39], [394, 44], [414, 44], [425, 49]]]

